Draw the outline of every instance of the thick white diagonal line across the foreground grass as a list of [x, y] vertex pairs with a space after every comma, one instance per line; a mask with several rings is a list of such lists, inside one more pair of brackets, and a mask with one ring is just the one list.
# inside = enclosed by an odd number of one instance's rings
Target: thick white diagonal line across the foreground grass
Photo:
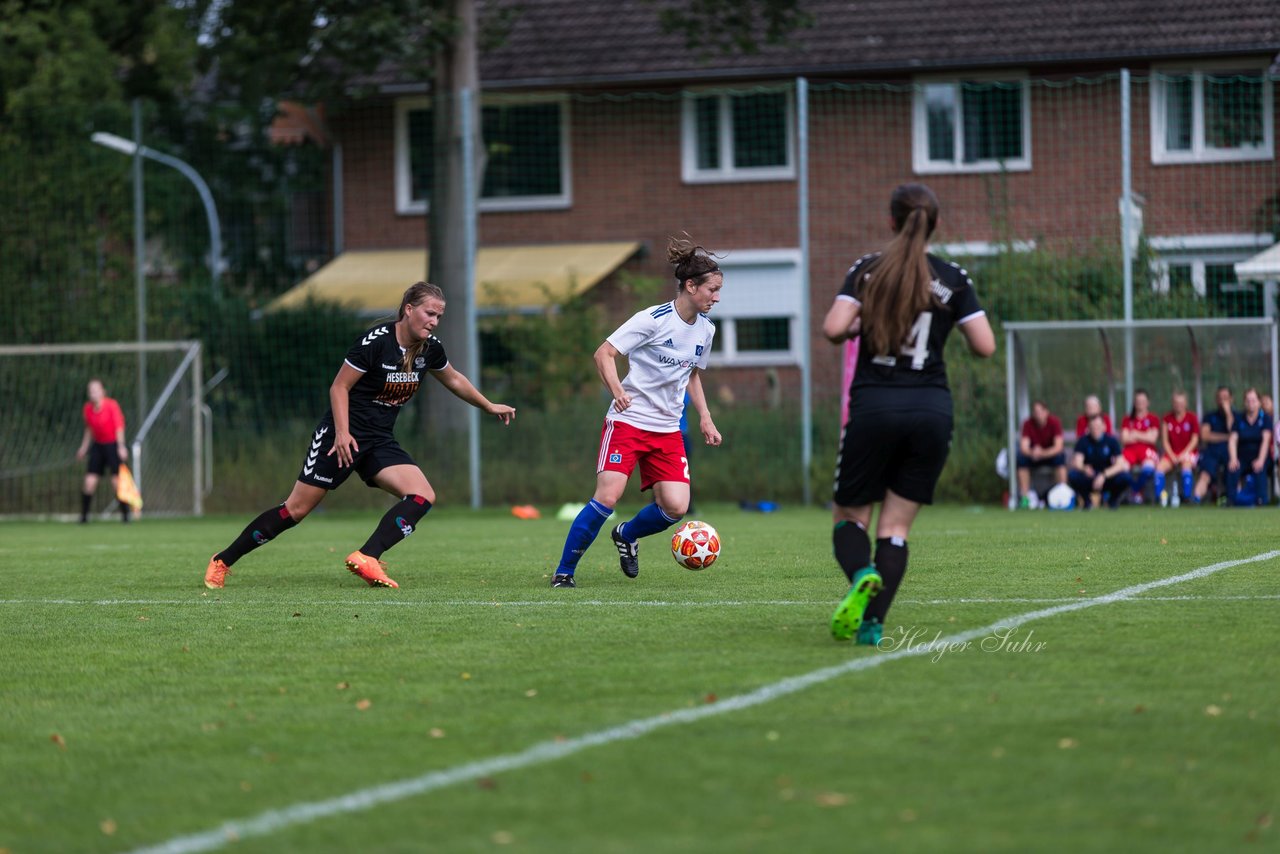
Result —
[[727, 714], [728, 712], [737, 712], [740, 709], [763, 705], [764, 703], [771, 703], [778, 698], [796, 694], [814, 685], [820, 685], [822, 682], [828, 682], [836, 677], [845, 676], [846, 673], [870, 670], [900, 658], [934, 654], [937, 645], [961, 644], [977, 640], [979, 638], [989, 636], [995, 631], [1010, 631], [1036, 620], [1044, 620], [1061, 613], [1070, 613], [1071, 611], [1083, 611], [1084, 608], [1093, 608], [1100, 604], [1110, 604], [1112, 602], [1132, 599], [1133, 597], [1147, 593], [1148, 590], [1181, 584], [1183, 581], [1203, 579], [1233, 566], [1270, 561], [1275, 557], [1280, 557], [1280, 551], [1263, 552], [1261, 554], [1254, 554], [1253, 557], [1245, 557], [1238, 561], [1211, 563], [1189, 572], [1183, 572], [1181, 575], [1172, 575], [1156, 581], [1135, 584], [1114, 593], [1093, 597], [1092, 599], [1069, 602], [1052, 608], [1042, 608], [1039, 611], [1028, 611], [980, 629], [970, 629], [968, 631], [948, 635], [947, 638], [938, 640], [937, 644], [918, 644], [914, 647], [905, 645], [893, 652], [858, 656], [855, 658], [850, 658], [842, 665], [822, 667], [808, 673], [801, 673], [800, 676], [791, 676], [758, 688], [754, 691], [728, 697], [707, 705], [681, 708], [672, 712], [664, 712], [662, 714], [654, 714], [652, 717], [636, 718], [607, 730], [598, 730], [595, 732], [580, 735], [576, 739], [564, 739], [563, 741], [541, 741], [521, 750], [520, 753], [507, 753], [490, 757], [488, 759], [477, 759], [475, 762], [467, 762], [452, 768], [431, 771], [419, 777], [397, 780], [379, 786], [370, 786], [369, 789], [361, 789], [337, 798], [293, 804], [292, 807], [284, 807], [280, 809], [268, 809], [266, 812], [259, 813], [251, 818], [224, 822], [212, 830], [189, 834], [186, 836], [174, 836], [173, 839], [160, 842], [159, 845], [136, 849], [133, 854], [191, 854], [195, 851], [216, 850], [241, 839], [269, 836], [294, 825], [305, 825], [321, 818], [372, 809], [374, 807], [379, 807], [381, 804], [394, 803], [428, 791], [444, 789], [445, 786], [452, 786], [454, 784], [479, 780], [481, 777], [507, 771], [517, 771], [520, 768], [527, 768], [530, 766], [543, 764], [547, 762], [554, 762], [589, 748], [639, 739], [649, 732], [669, 726], [695, 723], [704, 718], [718, 717], [721, 714]]

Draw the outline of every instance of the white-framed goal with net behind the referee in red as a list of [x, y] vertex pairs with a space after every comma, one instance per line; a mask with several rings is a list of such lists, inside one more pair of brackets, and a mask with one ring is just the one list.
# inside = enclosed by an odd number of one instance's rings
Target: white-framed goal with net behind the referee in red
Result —
[[[76, 451], [93, 378], [124, 412], [142, 515], [198, 516], [207, 420], [195, 341], [0, 347], [0, 516], [78, 517], [86, 462]], [[95, 513], [113, 512], [110, 493], [99, 485]]]

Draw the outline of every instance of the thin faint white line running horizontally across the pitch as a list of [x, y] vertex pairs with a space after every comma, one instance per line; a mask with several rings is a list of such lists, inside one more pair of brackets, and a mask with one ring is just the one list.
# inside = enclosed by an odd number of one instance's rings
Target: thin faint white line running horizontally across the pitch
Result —
[[[1181, 597], [1130, 597], [1126, 602], [1263, 602], [1280, 599], [1280, 593], [1256, 593], [1243, 595], [1181, 595]], [[897, 604], [1056, 604], [1061, 602], [1088, 602], [1089, 597], [1004, 597], [1004, 598], [975, 598], [961, 597], [952, 599], [897, 599]], [[708, 599], [704, 602], [667, 602], [662, 599], [527, 599], [515, 602], [502, 602], [500, 599], [413, 599], [410, 602], [396, 599], [0, 599], [0, 606], [195, 606], [205, 608], [744, 608], [753, 606], [767, 607], [815, 607], [829, 606], [835, 599]]]

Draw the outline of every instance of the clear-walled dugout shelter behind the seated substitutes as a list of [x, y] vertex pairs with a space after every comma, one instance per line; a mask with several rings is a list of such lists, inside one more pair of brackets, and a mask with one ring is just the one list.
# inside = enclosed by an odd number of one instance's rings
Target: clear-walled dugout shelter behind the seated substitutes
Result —
[[1044, 401], [1062, 421], [1068, 449], [1084, 398], [1096, 394], [1119, 431], [1134, 389], [1146, 389], [1153, 412], [1170, 410], [1174, 392], [1202, 416], [1228, 385], [1242, 407], [1247, 388], [1280, 397], [1276, 323], [1270, 318], [1098, 320], [1005, 324], [1009, 412], [1009, 494], [1012, 465], [1032, 401]]

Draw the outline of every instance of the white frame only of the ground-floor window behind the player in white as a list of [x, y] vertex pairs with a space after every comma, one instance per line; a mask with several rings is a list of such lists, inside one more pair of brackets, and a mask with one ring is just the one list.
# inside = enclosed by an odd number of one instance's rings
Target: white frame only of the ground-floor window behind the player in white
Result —
[[[806, 297], [804, 282], [800, 275], [804, 268], [800, 264], [800, 250], [733, 250], [719, 259], [721, 270], [724, 271], [724, 300], [712, 309], [709, 318], [716, 324], [716, 342], [712, 346], [709, 364], [717, 367], [781, 367], [800, 365], [803, 360], [801, 341], [804, 330], [800, 328], [800, 307]], [[795, 269], [795, 293], [782, 293], [780, 298], [771, 303], [763, 300], [733, 300], [733, 269], [760, 265], [790, 265]], [[735, 303], [737, 303], [735, 306]], [[736, 310], [735, 310], [736, 309]], [[737, 348], [737, 321], [759, 320], [764, 318], [787, 319], [787, 350], [753, 350], [740, 352]]]

